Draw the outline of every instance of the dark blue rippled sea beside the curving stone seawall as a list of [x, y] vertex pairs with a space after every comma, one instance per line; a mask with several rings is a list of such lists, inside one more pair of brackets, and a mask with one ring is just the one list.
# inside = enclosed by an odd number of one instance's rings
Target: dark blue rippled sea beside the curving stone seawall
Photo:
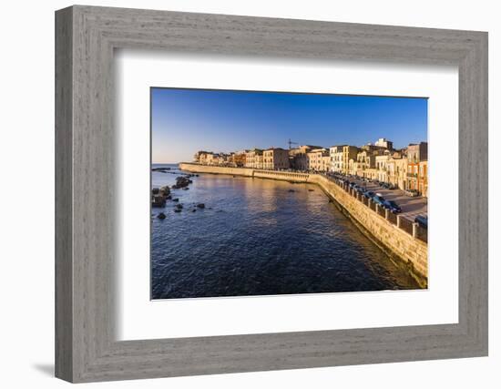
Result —
[[[160, 166], [171, 170], [152, 172], [152, 188], [182, 174], [177, 165], [153, 165]], [[153, 299], [419, 288], [315, 185], [211, 174], [192, 180], [189, 190], [172, 190], [181, 212], [172, 201], [151, 210]]]

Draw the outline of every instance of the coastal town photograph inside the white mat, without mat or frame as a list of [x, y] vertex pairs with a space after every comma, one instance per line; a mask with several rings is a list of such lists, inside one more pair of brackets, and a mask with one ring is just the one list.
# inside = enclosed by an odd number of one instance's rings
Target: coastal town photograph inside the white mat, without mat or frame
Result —
[[150, 96], [152, 299], [426, 287], [426, 98]]

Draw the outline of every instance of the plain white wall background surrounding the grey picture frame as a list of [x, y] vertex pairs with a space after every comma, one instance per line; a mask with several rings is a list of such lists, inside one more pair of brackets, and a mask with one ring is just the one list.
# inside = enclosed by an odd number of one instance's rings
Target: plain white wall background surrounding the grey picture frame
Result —
[[[501, 176], [495, 146], [501, 141], [499, 68], [501, 25], [496, 2], [309, 0], [87, 1], [190, 12], [291, 17], [401, 26], [459, 28], [489, 32], [490, 196]], [[54, 350], [54, 11], [67, 1], [5, 2], [0, 60], [0, 343], [2, 387], [57, 388]], [[499, 163], [497, 163], [499, 166]], [[100, 387], [254, 388], [432, 387], [495, 388], [501, 384], [499, 327], [500, 229], [496, 201], [490, 204], [490, 356], [463, 360], [332, 367], [282, 372], [226, 374], [97, 384]], [[494, 238], [494, 239], [493, 239]]]

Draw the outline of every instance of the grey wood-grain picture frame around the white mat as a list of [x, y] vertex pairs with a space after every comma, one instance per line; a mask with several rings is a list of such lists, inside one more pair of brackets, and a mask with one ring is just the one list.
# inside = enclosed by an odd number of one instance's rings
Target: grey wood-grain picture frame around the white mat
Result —
[[[457, 66], [459, 322], [118, 342], [113, 207], [116, 48]], [[80, 5], [56, 11], [57, 377], [77, 383], [483, 355], [485, 32]]]

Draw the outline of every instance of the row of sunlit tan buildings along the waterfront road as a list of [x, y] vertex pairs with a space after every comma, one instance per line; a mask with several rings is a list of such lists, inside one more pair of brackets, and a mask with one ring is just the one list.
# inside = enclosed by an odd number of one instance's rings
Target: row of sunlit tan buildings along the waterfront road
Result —
[[253, 148], [231, 153], [199, 151], [194, 160], [203, 165], [253, 169], [338, 172], [388, 182], [400, 189], [428, 194], [428, 144], [420, 142], [395, 149], [380, 138], [362, 147], [337, 145], [330, 148], [304, 145], [298, 148]]

